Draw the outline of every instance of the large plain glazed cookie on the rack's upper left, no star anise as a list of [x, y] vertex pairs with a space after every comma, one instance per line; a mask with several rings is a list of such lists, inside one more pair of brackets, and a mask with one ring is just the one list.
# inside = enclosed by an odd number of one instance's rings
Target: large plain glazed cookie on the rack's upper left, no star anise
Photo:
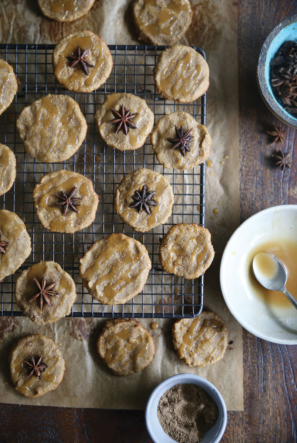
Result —
[[73, 98], [48, 94], [23, 109], [16, 128], [27, 154], [54, 163], [77, 151], [86, 136], [87, 122]]

